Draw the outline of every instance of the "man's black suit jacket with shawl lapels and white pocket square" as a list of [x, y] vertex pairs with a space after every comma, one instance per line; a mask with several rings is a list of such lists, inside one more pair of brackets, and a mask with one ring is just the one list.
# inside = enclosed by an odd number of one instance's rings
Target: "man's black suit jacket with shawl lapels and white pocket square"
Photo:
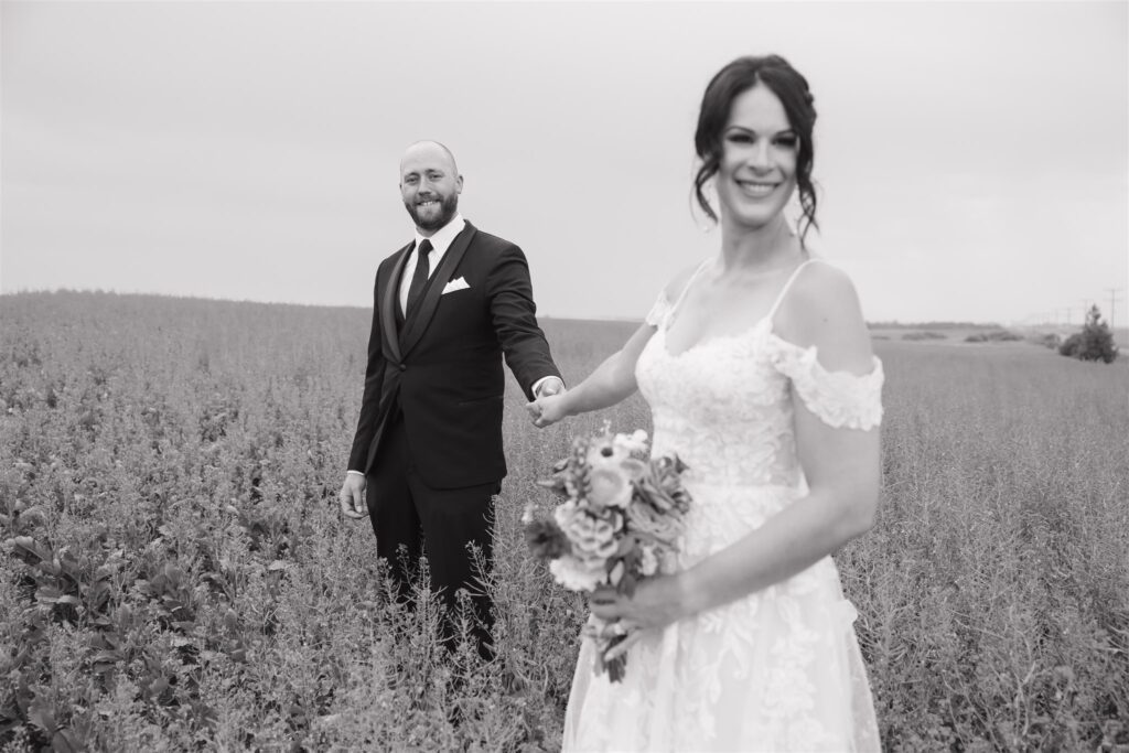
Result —
[[[470, 222], [444, 254], [429, 287], [397, 332], [400, 281], [410, 243], [376, 272], [365, 395], [349, 469], [368, 473], [394, 411], [403, 413], [415, 467], [436, 489], [506, 475], [502, 356], [526, 397], [560, 376], [537, 326], [522, 249]], [[467, 288], [444, 294], [452, 280]]]

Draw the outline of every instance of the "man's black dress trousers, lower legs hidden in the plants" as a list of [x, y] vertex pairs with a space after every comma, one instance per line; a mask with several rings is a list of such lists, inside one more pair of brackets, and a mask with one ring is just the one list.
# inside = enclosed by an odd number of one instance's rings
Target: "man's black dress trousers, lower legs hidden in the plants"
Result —
[[448, 647], [454, 647], [452, 639], [456, 636], [450, 620], [457, 604], [456, 592], [465, 588], [478, 618], [474, 637], [479, 654], [490, 658], [491, 603], [469, 545], [478, 548], [489, 571], [493, 560], [493, 498], [501, 483], [492, 481], [460, 489], [428, 487], [415, 470], [403, 414], [399, 411], [385, 429], [367, 483], [365, 501], [376, 533], [376, 553], [387, 560], [401, 597], [408, 598], [412, 570], [420, 555], [426, 555], [430, 586], [448, 607], [448, 619], [444, 621]]

